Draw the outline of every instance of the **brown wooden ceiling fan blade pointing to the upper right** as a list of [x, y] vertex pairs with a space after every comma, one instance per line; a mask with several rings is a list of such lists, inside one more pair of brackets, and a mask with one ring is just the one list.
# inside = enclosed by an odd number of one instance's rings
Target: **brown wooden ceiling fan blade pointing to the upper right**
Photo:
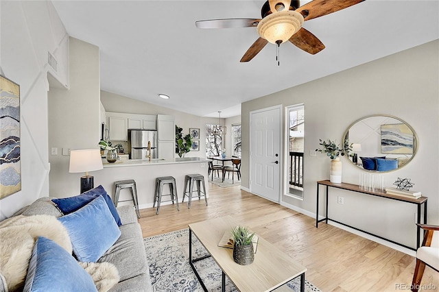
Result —
[[297, 8], [296, 12], [300, 12], [305, 21], [309, 21], [310, 19], [316, 19], [317, 17], [337, 12], [338, 10], [351, 7], [363, 1], [364, 0], [313, 0]]

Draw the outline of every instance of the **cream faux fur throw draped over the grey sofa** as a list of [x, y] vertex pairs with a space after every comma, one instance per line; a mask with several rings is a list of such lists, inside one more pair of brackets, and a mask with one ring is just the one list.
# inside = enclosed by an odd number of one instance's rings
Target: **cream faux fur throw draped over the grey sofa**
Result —
[[[54, 216], [15, 216], [0, 222], [0, 272], [9, 291], [23, 289], [27, 267], [38, 236], [45, 236], [69, 254], [72, 245], [67, 229]], [[91, 274], [97, 289], [108, 291], [119, 282], [119, 273], [110, 263], [80, 263]]]

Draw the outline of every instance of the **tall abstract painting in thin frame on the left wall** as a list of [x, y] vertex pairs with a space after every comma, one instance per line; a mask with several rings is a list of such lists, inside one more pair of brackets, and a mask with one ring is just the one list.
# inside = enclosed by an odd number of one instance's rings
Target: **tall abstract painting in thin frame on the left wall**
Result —
[[21, 191], [20, 86], [0, 75], [0, 199]]

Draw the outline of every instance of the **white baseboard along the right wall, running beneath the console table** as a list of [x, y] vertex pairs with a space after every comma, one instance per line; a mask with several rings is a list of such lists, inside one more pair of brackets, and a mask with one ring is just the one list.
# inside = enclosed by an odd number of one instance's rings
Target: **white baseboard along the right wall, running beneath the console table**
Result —
[[[287, 203], [285, 203], [285, 202], [282, 202], [281, 205], [282, 205], [282, 206], [285, 206], [285, 207], [287, 207], [287, 208], [289, 208], [289, 209], [291, 209], [291, 210], [294, 210], [294, 211], [296, 211], [296, 212], [300, 212], [301, 214], [306, 215], [306, 216], [311, 217], [311, 218], [313, 218], [314, 220], [316, 220], [316, 213], [309, 212], [308, 210], [305, 210], [305, 209], [302, 209], [302, 208], [298, 208], [298, 206], [294, 206], [294, 205], [292, 205], [292, 204], [287, 204]], [[320, 219], [324, 219], [324, 216], [319, 215], [318, 218], [319, 218], [319, 220], [320, 220]], [[320, 223], [320, 224], [324, 224], [324, 223]], [[340, 229], [342, 229], [342, 230], [346, 230], [347, 232], [351, 232], [351, 233], [353, 233], [353, 234], [356, 234], [356, 235], [358, 235], [358, 236], [361, 236], [361, 237], [363, 237], [363, 238], [365, 238], [365, 239], [369, 239], [370, 241], [374, 241], [374, 242], [376, 242], [376, 243], [379, 243], [379, 244], [385, 245], [385, 246], [390, 247], [390, 248], [392, 248], [392, 249], [394, 249], [394, 250], [397, 250], [397, 251], [399, 251], [399, 252], [403, 252], [404, 254], [408, 254], [409, 256], [414, 256], [414, 257], [416, 257], [416, 251], [414, 251], [414, 250], [410, 250], [410, 249], [408, 249], [408, 248], [406, 248], [406, 247], [402, 247], [401, 245], [397, 245], [397, 244], [391, 243], [391, 242], [389, 242], [389, 241], [385, 241], [384, 239], [380, 239], [379, 237], [376, 237], [376, 236], [373, 236], [373, 235], [370, 235], [370, 234], [367, 234], [367, 233], [361, 232], [361, 231], [359, 231], [359, 230], [355, 230], [355, 229], [353, 229], [353, 228], [349, 228], [348, 226], [344, 226], [344, 225], [342, 225], [342, 224], [339, 224], [339, 223], [333, 222], [333, 221], [331, 221], [331, 220], [328, 221], [328, 224], [331, 225], [331, 226], [335, 226], [335, 227], [337, 227], [337, 228], [340, 228]]]

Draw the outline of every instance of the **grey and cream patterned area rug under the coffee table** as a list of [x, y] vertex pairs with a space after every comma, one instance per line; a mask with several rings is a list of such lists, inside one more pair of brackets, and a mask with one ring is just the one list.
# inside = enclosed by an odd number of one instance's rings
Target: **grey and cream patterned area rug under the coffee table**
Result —
[[[203, 291], [189, 265], [189, 229], [148, 237], [143, 239], [143, 242], [154, 291]], [[193, 258], [207, 254], [195, 236], [192, 242]], [[221, 269], [212, 258], [196, 262], [195, 267], [209, 291], [221, 291]], [[287, 287], [294, 292], [300, 291], [300, 277], [288, 282]], [[237, 291], [228, 278], [226, 278], [226, 291]], [[320, 290], [305, 280], [305, 291]]]

